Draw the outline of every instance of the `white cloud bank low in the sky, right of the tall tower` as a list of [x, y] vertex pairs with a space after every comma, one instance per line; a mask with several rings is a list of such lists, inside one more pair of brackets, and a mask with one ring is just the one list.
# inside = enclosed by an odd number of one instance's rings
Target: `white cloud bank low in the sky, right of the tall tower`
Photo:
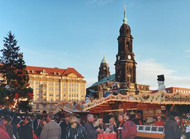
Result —
[[[175, 73], [175, 75], [174, 75]], [[137, 83], [150, 85], [150, 89], [157, 89], [157, 75], [164, 74], [166, 87], [190, 88], [190, 77], [176, 76], [177, 71], [169, 69], [153, 59], [139, 61], [137, 65]]]

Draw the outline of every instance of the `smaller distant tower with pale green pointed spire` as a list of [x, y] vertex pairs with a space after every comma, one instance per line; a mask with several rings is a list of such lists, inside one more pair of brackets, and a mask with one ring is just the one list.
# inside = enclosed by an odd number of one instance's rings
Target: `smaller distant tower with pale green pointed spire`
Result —
[[106, 58], [104, 56], [99, 68], [98, 81], [107, 76], [110, 76], [110, 71], [109, 71], [108, 62], [106, 61]]

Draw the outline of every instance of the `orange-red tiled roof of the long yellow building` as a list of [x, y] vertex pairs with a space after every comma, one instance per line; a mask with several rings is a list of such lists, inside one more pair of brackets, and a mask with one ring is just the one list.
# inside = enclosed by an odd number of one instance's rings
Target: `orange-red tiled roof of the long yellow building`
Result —
[[71, 73], [75, 74], [79, 78], [84, 78], [78, 71], [74, 68], [59, 69], [59, 68], [47, 68], [47, 67], [36, 67], [36, 66], [26, 66], [26, 70], [30, 74], [40, 74], [41, 72], [48, 73], [54, 76], [67, 76]]

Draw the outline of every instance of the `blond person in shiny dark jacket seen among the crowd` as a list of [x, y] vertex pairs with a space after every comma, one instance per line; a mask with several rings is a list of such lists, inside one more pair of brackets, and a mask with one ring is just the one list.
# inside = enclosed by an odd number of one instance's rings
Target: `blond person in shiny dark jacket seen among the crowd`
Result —
[[78, 119], [71, 116], [69, 122], [70, 125], [66, 129], [66, 139], [86, 139], [85, 129], [78, 124]]

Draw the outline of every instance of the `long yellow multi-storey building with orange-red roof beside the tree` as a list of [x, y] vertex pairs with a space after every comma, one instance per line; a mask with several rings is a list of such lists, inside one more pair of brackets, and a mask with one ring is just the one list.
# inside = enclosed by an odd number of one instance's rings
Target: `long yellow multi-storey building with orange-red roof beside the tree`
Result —
[[74, 68], [27, 66], [30, 87], [33, 88], [33, 111], [53, 111], [61, 101], [84, 101], [86, 81]]

